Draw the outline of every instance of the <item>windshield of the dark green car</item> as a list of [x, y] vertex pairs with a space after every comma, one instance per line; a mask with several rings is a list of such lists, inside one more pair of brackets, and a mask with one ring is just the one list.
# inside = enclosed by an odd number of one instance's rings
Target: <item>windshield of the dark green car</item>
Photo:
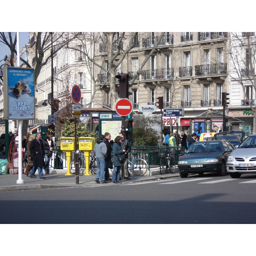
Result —
[[193, 143], [186, 153], [200, 153], [200, 152], [214, 152], [223, 151], [221, 142], [213, 140], [206, 142], [195, 142]]

